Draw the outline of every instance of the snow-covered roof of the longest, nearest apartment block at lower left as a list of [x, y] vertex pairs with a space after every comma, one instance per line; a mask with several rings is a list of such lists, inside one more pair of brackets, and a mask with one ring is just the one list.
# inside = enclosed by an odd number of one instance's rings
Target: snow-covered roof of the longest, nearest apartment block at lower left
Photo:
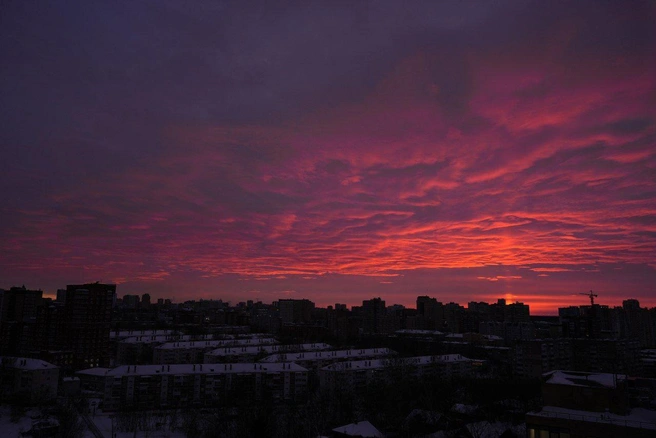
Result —
[[[78, 374], [92, 374], [91, 370], [100, 370], [92, 368], [89, 370], [78, 371]], [[107, 377], [123, 376], [155, 376], [158, 374], [166, 375], [186, 375], [186, 374], [234, 374], [234, 373], [278, 373], [278, 372], [304, 372], [307, 371], [300, 365], [292, 362], [284, 363], [220, 363], [220, 364], [173, 364], [173, 365], [123, 365], [116, 368], [102, 369], [93, 373]]]

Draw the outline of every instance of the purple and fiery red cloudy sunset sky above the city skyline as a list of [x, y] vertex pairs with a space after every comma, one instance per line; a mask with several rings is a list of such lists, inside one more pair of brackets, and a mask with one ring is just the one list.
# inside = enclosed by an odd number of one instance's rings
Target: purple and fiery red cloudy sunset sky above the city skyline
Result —
[[0, 4], [0, 287], [656, 306], [652, 1]]

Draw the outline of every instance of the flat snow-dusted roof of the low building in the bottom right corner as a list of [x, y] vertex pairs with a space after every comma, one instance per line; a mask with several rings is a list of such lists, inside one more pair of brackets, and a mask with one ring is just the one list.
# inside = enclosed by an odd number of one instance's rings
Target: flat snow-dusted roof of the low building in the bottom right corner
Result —
[[643, 408], [631, 409], [627, 415], [610, 412], [579, 411], [556, 406], [545, 406], [540, 411], [529, 412], [536, 417], [564, 418], [589, 423], [618, 424], [620, 426], [656, 430], [656, 411]]

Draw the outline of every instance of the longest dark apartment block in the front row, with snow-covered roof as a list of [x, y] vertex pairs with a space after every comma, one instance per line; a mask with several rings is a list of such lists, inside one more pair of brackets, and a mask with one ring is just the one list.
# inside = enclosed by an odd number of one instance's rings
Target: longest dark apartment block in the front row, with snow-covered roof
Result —
[[298, 401], [307, 395], [307, 369], [294, 363], [125, 365], [76, 373], [99, 393], [106, 411]]

